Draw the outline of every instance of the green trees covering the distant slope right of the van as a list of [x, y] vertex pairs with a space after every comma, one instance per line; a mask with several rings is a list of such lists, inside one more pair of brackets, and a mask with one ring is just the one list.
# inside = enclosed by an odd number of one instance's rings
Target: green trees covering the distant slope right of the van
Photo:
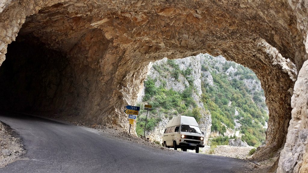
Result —
[[[244, 79], [255, 79], [258, 84], [257, 76], [248, 68], [236, 65], [235, 62], [225, 62], [221, 69], [212, 66], [209, 61], [205, 64], [213, 70], [210, 74], [213, 77], [214, 85], [202, 82], [202, 101], [204, 107], [211, 112], [212, 127], [211, 131], [219, 131], [220, 134], [226, 132], [225, 125], [234, 129], [234, 119], [238, 119], [241, 126], [242, 140], [250, 146], [258, 146], [265, 140], [265, 130], [262, 126], [268, 121], [266, 104], [262, 100], [263, 90], [256, 91], [254, 84], [252, 89], [245, 86]], [[233, 66], [237, 71], [231, 78], [225, 71]], [[206, 70], [205, 65], [201, 70]], [[216, 71], [217, 70], [217, 71]], [[239, 79], [238, 79], [239, 78]], [[239, 112], [235, 116], [235, 109]], [[223, 124], [225, 125], [223, 125]]]

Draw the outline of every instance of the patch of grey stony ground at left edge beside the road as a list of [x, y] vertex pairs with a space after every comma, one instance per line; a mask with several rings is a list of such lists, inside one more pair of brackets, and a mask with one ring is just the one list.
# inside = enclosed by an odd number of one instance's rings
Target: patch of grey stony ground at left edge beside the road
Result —
[[22, 159], [25, 153], [18, 134], [0, 121], [0, 168]]

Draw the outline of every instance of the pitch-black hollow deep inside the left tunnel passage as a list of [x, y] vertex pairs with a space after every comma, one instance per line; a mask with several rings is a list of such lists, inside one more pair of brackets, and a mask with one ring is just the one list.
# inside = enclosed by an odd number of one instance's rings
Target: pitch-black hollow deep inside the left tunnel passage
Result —
[[66, 54], [47, 48], [32, 34], [18, 36], [7, 50], [0, 67], [1, 109], [26, 113], [63, 111], [55, 103], [65, 97], [61, 87], [69, 64]]

